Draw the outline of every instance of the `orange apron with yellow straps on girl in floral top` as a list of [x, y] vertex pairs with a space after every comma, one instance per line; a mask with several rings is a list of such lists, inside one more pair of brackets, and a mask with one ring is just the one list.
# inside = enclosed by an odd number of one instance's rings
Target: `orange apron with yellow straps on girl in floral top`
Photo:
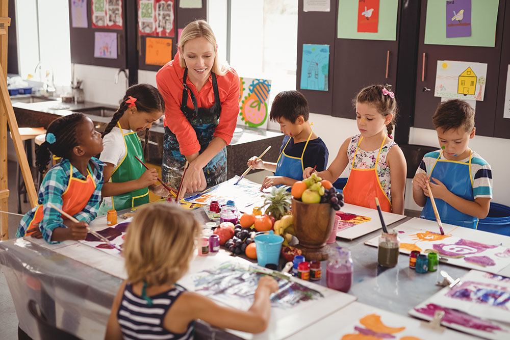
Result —
[[360, 138], [356, 151], [354, 151], [354, 157], [352, 159], [351, 172], [347, 183], [344, 187], [344, 201], [345, 203], [365, 206], [367, 208], [376, 209], [374, 197], [379, 199], [381, 210], [391, 213], [391, 202], [388, 196], [386, 196], [384, 190], [382, 190], [379, 177], [377, 176], [377, 163], [379, 162], [379, 155], [381, 153], [382, 146], [386, 142], [386, 136], [382, 140], [375, 159], [375, 166], [370, 169], [354, 169], [354, 161], [356, 160], [356, 153], [360, 147], [363, 137]]

